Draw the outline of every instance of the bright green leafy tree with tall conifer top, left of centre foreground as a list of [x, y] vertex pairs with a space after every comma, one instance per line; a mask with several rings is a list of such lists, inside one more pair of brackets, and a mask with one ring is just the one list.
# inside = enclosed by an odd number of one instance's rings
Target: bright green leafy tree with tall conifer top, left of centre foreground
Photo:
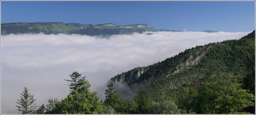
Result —
[[53, 114], [102, 114], [103, 104], [99, 102], [96, 92], [90, 92], [91, 86], [85, 77], [81, 78], [81, 74], [74, 71], [69, 75], [72, 82], [69, 84], [72, 92], [56, 104]]

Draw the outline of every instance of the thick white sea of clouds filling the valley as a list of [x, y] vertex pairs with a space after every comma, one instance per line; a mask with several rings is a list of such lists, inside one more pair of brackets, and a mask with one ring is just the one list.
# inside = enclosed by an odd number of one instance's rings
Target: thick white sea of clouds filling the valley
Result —
[[69, 94], [69, 75], [86, 76], [91, 91], [104, 98], [102, 89], [113, 76], [147, 66], [188, 48], [240, 39], [250, 32], [150, 32], [108, 38], [66, 34], [1, 36], [1, 114], [17, 114], [15, 102], [24, 87], [35, 94], [38, 106], [47, 99]]

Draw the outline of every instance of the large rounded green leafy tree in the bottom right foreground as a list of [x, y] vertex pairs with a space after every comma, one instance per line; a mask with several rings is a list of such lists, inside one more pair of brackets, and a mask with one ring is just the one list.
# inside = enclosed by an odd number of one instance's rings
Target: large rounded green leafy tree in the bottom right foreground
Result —
[[253, 106], [254, 96], [242, 89], [241, 77], [220, 73], [211, 75], [200, 91], [203, 114], [235, 114], [243, 108]]

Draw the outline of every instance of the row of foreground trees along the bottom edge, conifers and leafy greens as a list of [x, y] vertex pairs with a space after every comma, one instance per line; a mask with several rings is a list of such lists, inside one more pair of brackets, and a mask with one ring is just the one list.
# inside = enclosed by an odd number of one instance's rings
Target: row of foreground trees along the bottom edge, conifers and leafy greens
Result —
[[243, 109], [255, 104], [255, 95], [239, 83], [241, 76], [230, 73], [211, 75], [201, 87], [183, 87], [177, 97], [159, 94], [151, 98], [141, 90], [132, 101], [121, 98], [112, 83], [107, 85], [105, 100], [99, 101], [85, 77], [76, 71], [69, 76], [70, 80], [64, 79], [70, 82], [65, 99], [50, 98], [46, 106], [38, 107], [34, 94], [25, 87], [17, 110], [21, 114], [248, 114]]

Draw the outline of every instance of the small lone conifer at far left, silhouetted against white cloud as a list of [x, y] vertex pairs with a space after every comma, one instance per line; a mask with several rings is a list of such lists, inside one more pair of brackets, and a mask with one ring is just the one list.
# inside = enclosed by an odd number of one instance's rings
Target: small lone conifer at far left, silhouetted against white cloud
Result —
[[34, 101], [36, 99], [34, 98], [34, 94], [31, 95], [29, 93], [29, 90], [25, 87], [23, 93], [21, 94], [22, 96], [20, 96], [20, 100], [17, 99], [19, 102], [18, 103], [20, 106], [16, 106], [18, 107], [17, 110], [19, 110], [21, 112], [21, 114], [33, 114], [35, 112], [35, 108], [37, 107], [36, 104], [33, 104]]

